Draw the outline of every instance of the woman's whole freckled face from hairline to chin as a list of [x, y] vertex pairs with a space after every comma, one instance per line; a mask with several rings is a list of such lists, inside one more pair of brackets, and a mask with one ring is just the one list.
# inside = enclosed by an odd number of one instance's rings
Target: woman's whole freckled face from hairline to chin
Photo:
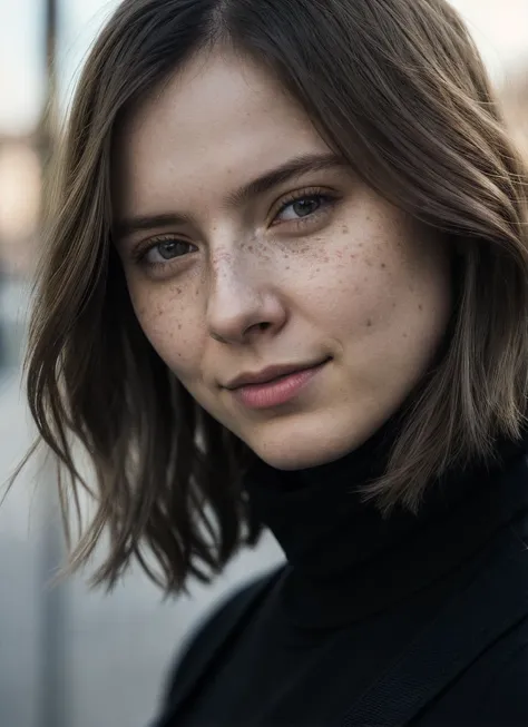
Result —
[[131, 302], [194, 399], [281, 469], [365, 441], [443, 337], [438, 236], [365, 186], [273, 78], [227, 51], [175, 75], [115, 151]]

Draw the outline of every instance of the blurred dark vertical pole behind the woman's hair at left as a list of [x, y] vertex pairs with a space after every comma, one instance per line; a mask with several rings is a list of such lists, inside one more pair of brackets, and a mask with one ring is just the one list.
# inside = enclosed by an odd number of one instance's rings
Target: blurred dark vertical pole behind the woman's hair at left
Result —
[[[57, 139], [57, 24], [58, 0], [45, 0], [46, 22], [46, 100], [38, 130], [38, 144], [45, 167]], [[63, 582], [50, 581], [59, 570], [62, 557], [62, 531], [59, 517], [57, 473], [51, 458], [46, 458], [38, 473], [42, 493], [42, 550], [41, 557], [41, 644], [39, 727], [71, 727], [67, 724], [67, 668], [66, 629], [67, 593]]]

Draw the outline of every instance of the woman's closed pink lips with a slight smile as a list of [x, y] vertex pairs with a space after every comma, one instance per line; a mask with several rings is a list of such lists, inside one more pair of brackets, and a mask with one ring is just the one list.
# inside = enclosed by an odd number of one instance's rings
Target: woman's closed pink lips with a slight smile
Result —
[[226, 389], [248, 409], [278, 406], [294, 399], [329, 361], [325, 358], [315, 364], [270, 366], [253, 374], [237, 376]]

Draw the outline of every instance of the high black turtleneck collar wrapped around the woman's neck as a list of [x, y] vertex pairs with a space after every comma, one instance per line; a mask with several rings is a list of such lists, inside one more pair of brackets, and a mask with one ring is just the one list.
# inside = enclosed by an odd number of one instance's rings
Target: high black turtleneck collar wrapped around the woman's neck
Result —
[[394, 435], [391, 421], [335, 462], [294, 472], [258, 463], [248, 477], [253, 508], [289, 562], [292, 622], [339, 627], [378, 613], [462, 563], [517, 510], [519, 493], [500, 487], [500, 473], [522, 458], [525, 442], [499, 444], [487, 465], [451, 471], [430, 485], [418, 514], [397, 508], [383, 518], [360, 491], [384, 471]]

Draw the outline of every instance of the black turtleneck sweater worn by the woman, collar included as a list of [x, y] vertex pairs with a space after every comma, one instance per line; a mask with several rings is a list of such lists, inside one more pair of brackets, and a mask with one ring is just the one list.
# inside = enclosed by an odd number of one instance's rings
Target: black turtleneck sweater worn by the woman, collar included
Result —
[[[156, 727], [392, 724], [382, 706], [366, 721], [345, 715], [388, 669], [399, 674], [397, 660], [486, 573], [505, 538], [519, 554], [527, 549], [528, 465], [525, 443], [502, 444], [491, 468], [432, 484], [418, 517], [397, 510], [383, 519], [355, 490], [383, 469], [389, 444], [384, 429], [332, 464], [253, 470], [251, 502], [287, 564], [231, 597], [202, 627], [170, 678]], [[528, 557], [524, 566], [509, 590], [528, 586]], [[485, 601], [499, 621], [493, 582]], [[526, 602], [515, 623], [402, 724], [528, 726]], [[454, 629], [448, 621], [443, 639], [453, 654], [462, 636]], [[421, 666], [413, 668], [415, 687], [394, 687], [388, 704], [428, 688]]]

